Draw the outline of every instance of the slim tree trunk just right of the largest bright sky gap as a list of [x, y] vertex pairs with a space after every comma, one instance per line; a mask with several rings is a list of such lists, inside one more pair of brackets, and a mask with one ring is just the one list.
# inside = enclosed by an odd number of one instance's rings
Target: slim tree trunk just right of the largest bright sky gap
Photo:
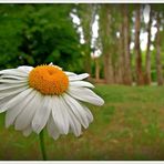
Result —
[[146, 49], [146, 63], [145, 63], [145, 84], [151, 84], [151, 27], [152, 27], [152, 9], [150, 11], [150, 21], [147, 24], [147, 49]]

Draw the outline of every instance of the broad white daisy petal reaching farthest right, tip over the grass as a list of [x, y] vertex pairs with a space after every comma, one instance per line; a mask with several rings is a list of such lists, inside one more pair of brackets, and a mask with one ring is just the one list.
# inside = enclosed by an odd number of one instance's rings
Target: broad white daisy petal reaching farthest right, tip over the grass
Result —
[[99, 95], [96, 95], [93, 91], [85, 88], [70, 88], [68, 92], [71, 96], [94, 104], [94, 105], [103, 105], [104, 101]]

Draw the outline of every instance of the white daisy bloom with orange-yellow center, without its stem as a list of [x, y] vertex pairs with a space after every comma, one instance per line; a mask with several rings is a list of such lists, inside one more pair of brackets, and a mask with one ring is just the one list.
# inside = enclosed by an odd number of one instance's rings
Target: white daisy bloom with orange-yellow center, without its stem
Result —
[[64, 72], [53, 65], [19, 66], [0, 71], [0, 113], [7, 111], [6, 126], [14, 125], [25, 136], [44, 126], [57, 140], [60, 134], [81, 135], [93, 121], [83, 104], [103, 105], [104, 101], [82, 81], [88, 73]]

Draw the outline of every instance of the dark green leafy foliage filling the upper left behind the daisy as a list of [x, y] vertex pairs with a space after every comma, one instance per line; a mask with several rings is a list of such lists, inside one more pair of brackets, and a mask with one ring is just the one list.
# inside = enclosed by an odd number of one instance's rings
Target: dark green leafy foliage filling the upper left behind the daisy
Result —
[[0, 68], [53, 62], [79, 71], [81, 45], [71, 4], [0, 6]]

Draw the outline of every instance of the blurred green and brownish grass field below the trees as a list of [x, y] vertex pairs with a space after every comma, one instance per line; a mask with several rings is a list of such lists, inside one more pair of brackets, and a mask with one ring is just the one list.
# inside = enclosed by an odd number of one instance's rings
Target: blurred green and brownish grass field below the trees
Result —
[[[102, 107], [83, 135], [53, 141], [45, 133], [49, 160], [164, 160], [164, 86], [96, 85]], [[0, 160], [42, 160], [37, 134], [4, 129], [0, 114]]]

